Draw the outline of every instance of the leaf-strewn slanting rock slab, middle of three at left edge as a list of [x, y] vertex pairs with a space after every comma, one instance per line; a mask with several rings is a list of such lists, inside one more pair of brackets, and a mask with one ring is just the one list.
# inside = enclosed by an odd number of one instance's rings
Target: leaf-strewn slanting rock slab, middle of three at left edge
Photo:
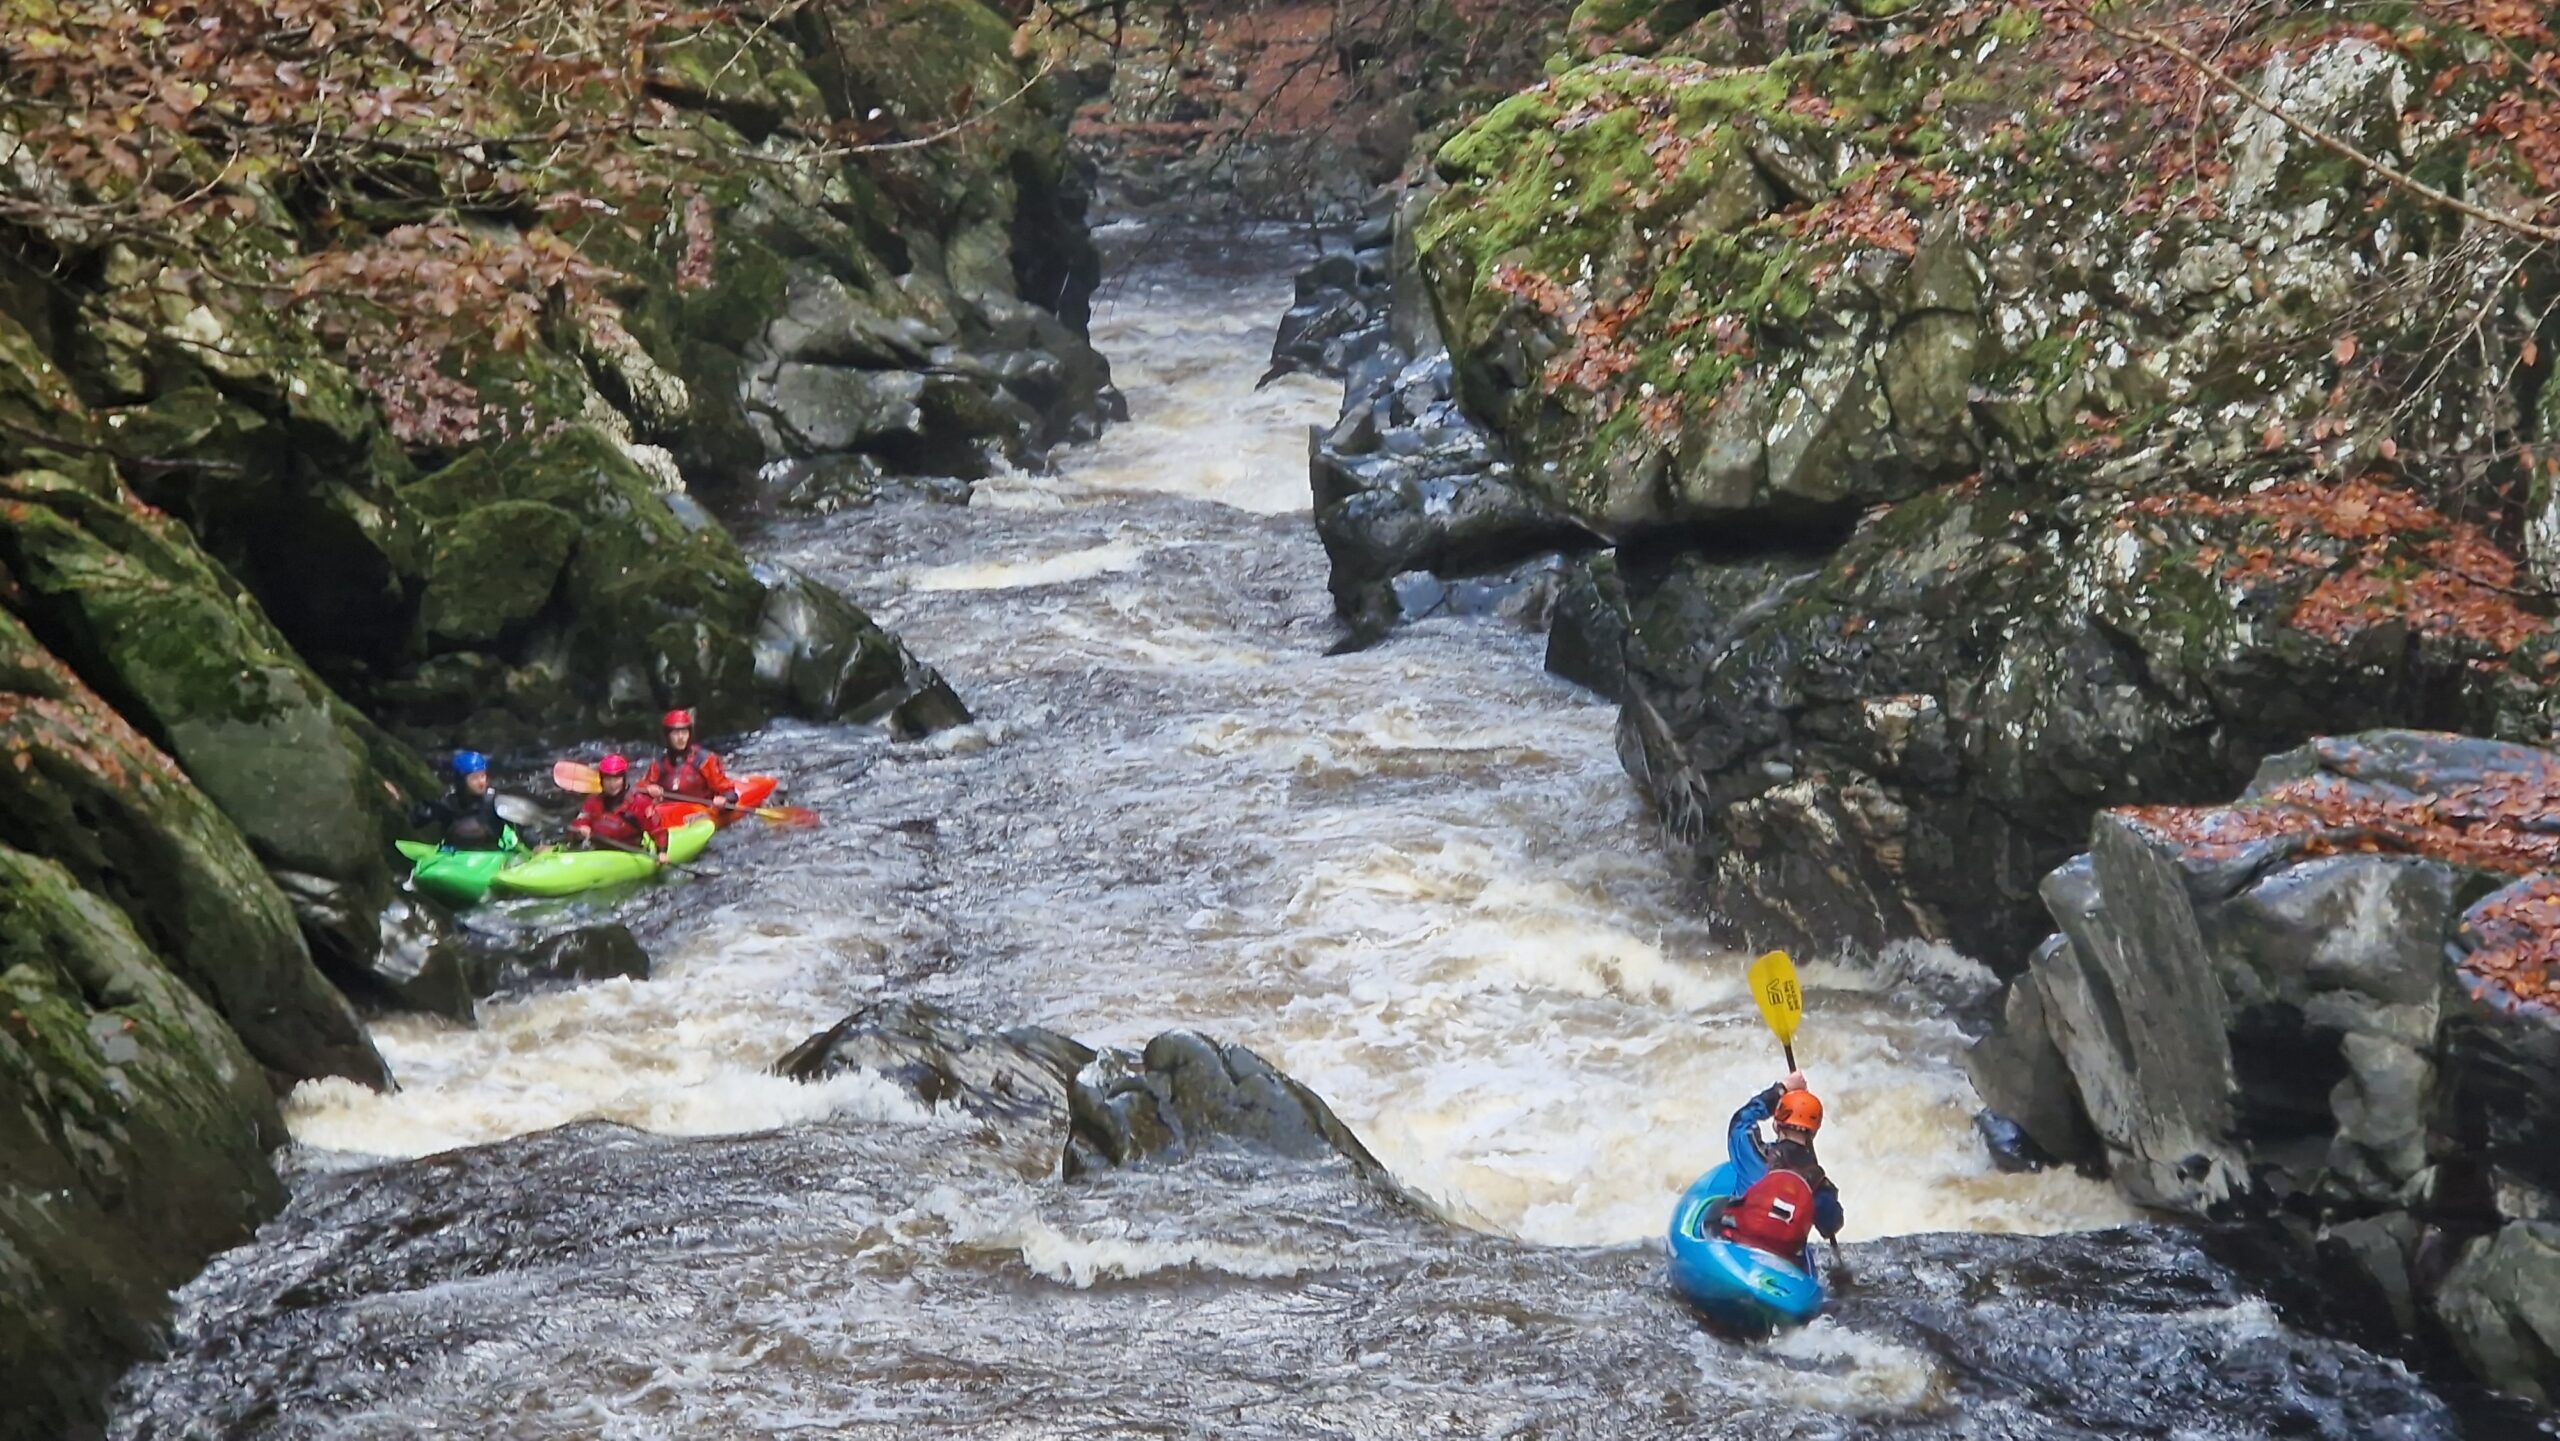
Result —
[[0, 760], [0, 845], [120, 909], [259, 1065], [287, 1080], [389, 1080], [248, 837], [8, 612]]

